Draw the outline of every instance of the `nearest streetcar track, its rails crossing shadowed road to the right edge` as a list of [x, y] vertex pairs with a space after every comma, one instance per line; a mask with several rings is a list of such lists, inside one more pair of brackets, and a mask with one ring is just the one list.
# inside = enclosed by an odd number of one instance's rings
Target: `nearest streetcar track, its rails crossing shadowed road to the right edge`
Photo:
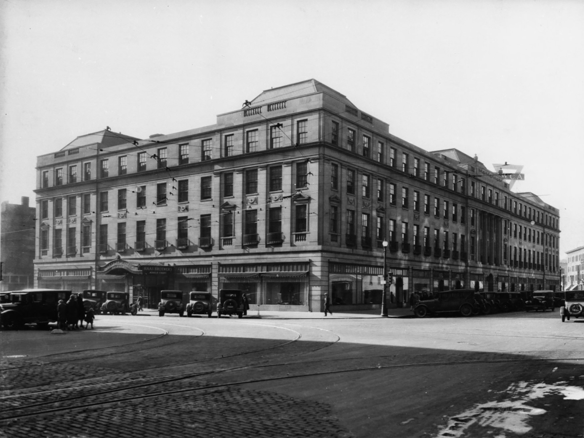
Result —
[[[240, 380], [240, 381], [231, 382], [231, 383], [205, 385], [205, 386], [197, 387], [197, 388], [180, 388], [178, 390], [160, 391], [160, 392], [155, 392], [153, 394], [147, 394], [147, 395], [138, 395], [138, 396], [133, 395], [130, 397], [120, 397], [117, 399], [107, 400], [107, 401], [97, 401], [97, 402], [86, 403], [86, 404], [77, 404], [77, 405], [72, 405], [72, 406], [60, 406], [58, 408], [45, 409], [44, 411], [34, 411], [34, 412], [30, 412], [30, 413], [22, 413], [20, 415], [4, 416], [4, 417], [0, 418], [0, 422], [9, 422], [11, 420], [27, 418], [27, 417], [31, 417], [31, 416], [38, 417], [41, 415], [49, 415], [49, 414], [53, 414], [53, 413], [61, 412], [61, 411], [78, 411], [79, 409], [88, 409], [88, 408], [94, 408], [97, 406], [112, 405], [112, 404], [126, 402], [126, 401], [138, 401], [138, 400], [150, 399], [150, 398], [155, 398], [155, 397], [166, 397], [169, 395], [184, 394], [186, 392], [216, 391], [216, 390], [220, 390], [222, 388], [230, 388], [230, 387], [235, 387], [238, 385], [267, 383], [270, 381], [281, 381], [281, 380], [296, 379], [296, 378], [327, 376], [327, 375], [330, 376], [330, 375], [334, 375], [334, 374], [354, 373], [354, 372], [361, 372], [361, 371], [400, 369], [400, 368], [405, 368], [405, 367], [460, 366], [460, 365], [468, 365], [468, 364], [493, 364], [493, 363], [528, 363], [528, 362], [534, 363], [534, 362], [541, 362], [541, 361], [548, 361], [548, 360], [550, 360], [550, 359], [548, 359], [548, 358], [545, 358], [545, 359], [544, 358], [531, 358], [531, 359], [487, 359], [487, 360], [420, 362], [420, 363], [394, 364], [394, 365], [387, 365], [387, 366], [360, 367], [358, 369], [351, 368], [351, 369], [333, 370], [333, 371], [320, 371], [318, 373], [295, 374], [294, 376], [290, 376], [289, 374], [287, 374], [286, 376]], [[553, 360], [555, 360], [555, 361], [584, 360], [584, 357], [558, 357], [558, 358], [554, 358]], [[274, 364], [272, 366], [285, 366], [285, 365], [286, 364]], [[103, 393], [104, 394], [105, 393], [112, 394], [114, 392], [131, 391], [131, 390], [135, 390], [136, 388], [154, 387], [156, 385], [162, 385], [164, 383], [170, 383], [170, 382], [179, 381], [179, 380], [186, 380], [188, 378], [200, 377], [201, 375], [218, 374], [218, 373], [224, 373], [227, 371], [233, 371], [233, 370], [237, 370], [237, 369], [253, 369], [253, 368], [259, 368], [259, 367], [266, 367], [266, 366], [265, 365], [242, 366], [242, 367], [235, 367], [232, 369], [209, 371], [207, 373], [195, 373], [195, 374], [191, 374], [190, 376], [173, 378], [173, 379], [169, 379], [166, 381], [156, 381], [156, 382], [152, 382], [152, 383], [148, 383], [148, 384], [142, 384], [142, 385], [138, 385], [138, 387], [116, 388], [116, 390], [111, 390], [111, 391], [107, 391], [107, 392], [103, 392]], [[50, 401], [41, 402], [38, 404], [18, 406], [18, 408], [4, 409], [4, 412], [15, 411], [17, 409], [27, 409], [27, 408], [34, 408], [34, 407], [38, 407], [38, 406], [50, 405], [50, 404], [55, 404], [57, 402], [62, 404], [63, 402], [66, 402], [66, 401], [73, 401], [73, 400], [77, 400], [79, 398], [93, 397], [95, 395], [101, 395], [101, 394], [102, 393], [92, 393], [89, 396], [88, 395], [79, 395], [79, 396], [71, 397], [71, 398], [57, 398], [57, 399], [53, 399]]]

